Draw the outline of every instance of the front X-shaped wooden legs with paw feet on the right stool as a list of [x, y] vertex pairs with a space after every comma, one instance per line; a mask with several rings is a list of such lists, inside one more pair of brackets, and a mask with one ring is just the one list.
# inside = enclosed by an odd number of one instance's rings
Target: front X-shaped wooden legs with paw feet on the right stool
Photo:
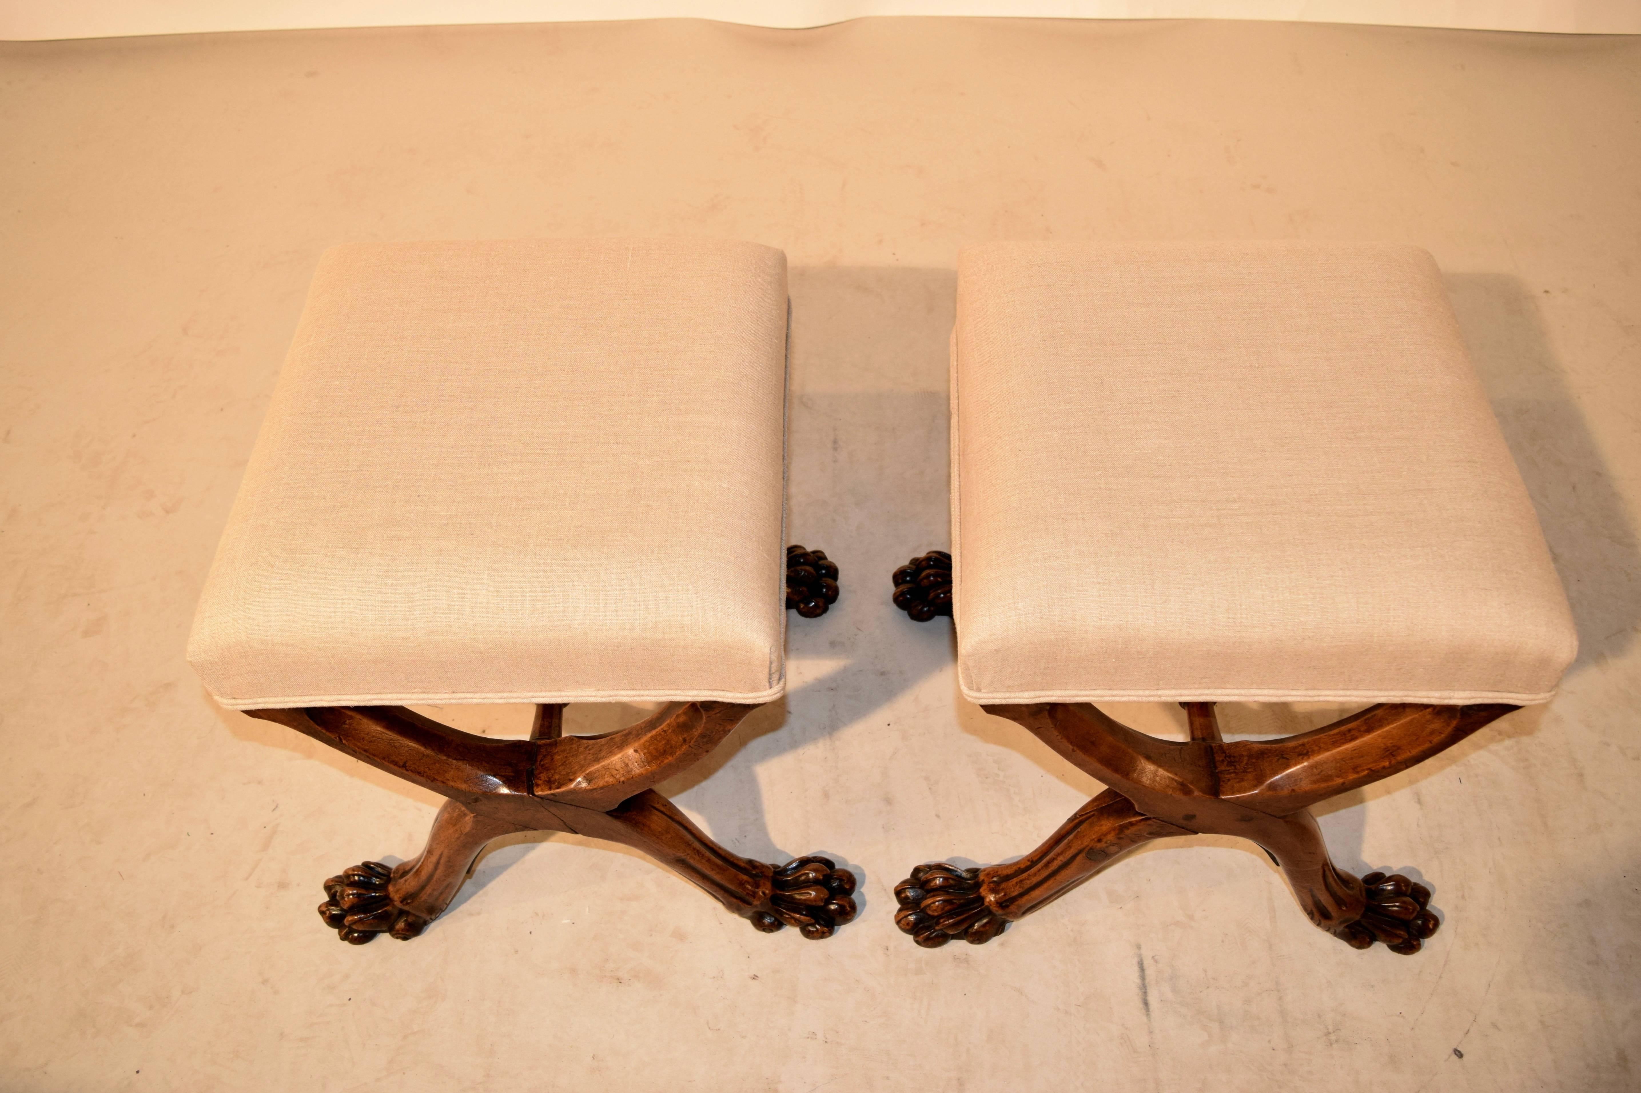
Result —
[[1280, 741], [1226, 742], [1213, 703], [1180, 705], [1188, 741], [1137, 732], [1091, 703], [983, 706], [1109, 788], [1017, 862], [919, 865], [894, 890], [898, 926], [930, 949], [953, 937], [981, 944], [1145, 842], [1226, 834], [1259, 844], [1321, 929], [1355, 949], [1378, 941], [1392, 952], [1418, 952], [1439, 926], [1429, 890], [1401, 875], [1357, 878], [1334, 865], [1310, 808], [1406, 770], [1515, 706], [1393, 703]]

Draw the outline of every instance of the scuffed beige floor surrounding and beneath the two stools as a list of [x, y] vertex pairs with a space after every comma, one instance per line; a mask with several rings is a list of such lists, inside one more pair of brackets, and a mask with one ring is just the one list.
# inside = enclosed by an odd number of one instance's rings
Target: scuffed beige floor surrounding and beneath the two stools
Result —
[[[0, 46], [0, 1086], [1633, 1090], [1638, 131], [1631, 38], [863, 20]], [[341, 946], [320, 882], [415, 854], [435, 801], [210, 701], [182, 657], [205, 569], [327, 246], [589, 233], [788, 252], [791, 537], [843, 598], [793, 621], [784, 701], [663, 788], [737, 852], [837, 855], [862, 918], [757, 934], [555, 836], [497, 846], [423, 937]], [[914, 864], [1024, 854], [1098, 790], [960, 698], [947, 623], [888, 603], [947, 541], [953, 270], [996, 238], [1436, 256], [1580, 654], [1556, 701], [1323, 816], [1344, 867], [1429, 880], [1426, 952], [1341, 946], [1209, 837], [990, 946], [894, 931]], [[1183, 737], [1177, 708], [1111, 711]]]

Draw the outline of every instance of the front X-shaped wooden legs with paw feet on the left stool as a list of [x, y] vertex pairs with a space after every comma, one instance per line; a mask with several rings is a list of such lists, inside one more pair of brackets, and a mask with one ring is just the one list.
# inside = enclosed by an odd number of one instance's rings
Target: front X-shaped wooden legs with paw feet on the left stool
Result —
[[697, 701], [601, 736], [563, 736], [542, 705], [527, 741], [459, 732], [404, 706], [248, 710], [446, 798], [418, 857], [363, 862], [325, 882], [320, 918], [343, 941], [415, 937], [456, 896], [484, 846], [566, 831], [630, 846], [730, 913], [820, 939], [855, 918], [855, 877], [824, 857], [768, 865], [729, 852], [651, 787], [715, 747], [757, 706]]

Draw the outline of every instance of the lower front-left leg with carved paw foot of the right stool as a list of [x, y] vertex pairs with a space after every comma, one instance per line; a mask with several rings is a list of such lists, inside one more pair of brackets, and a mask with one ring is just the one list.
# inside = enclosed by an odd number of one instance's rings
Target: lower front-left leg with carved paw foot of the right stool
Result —
[[924, 949], [953, 937], [981, 946], [1032, 911], [1114, 865], [1152, 839], [1190, 831], [1134, 808], [1116, 790], [1093, 798], [1060, 824], [1035, 850], [1008, 865], [958, 869], [947, 862], [919, 865], [894, 885], [901, 909], [894, 924]]

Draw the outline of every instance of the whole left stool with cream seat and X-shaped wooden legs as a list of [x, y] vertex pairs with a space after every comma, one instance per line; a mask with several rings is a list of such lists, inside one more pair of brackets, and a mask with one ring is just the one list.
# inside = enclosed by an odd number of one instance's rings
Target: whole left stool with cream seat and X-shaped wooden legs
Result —
[[[825, 859], [730, 854], [653, 788], [784, 688], [786, 259], [742, 243], [363, 244], [320, 262], [189, 642], [225, 706], [448, 798], [348, 869], [345, 941], [414, 937], [489, 839], [571, 831], [761, 931], [855, 914]], [[793, 557], [788, 557], [791, 554]], [[665, 701], [596, 737], [565, 703]], [[410, 703], [535, 703], [530, 739]]]

